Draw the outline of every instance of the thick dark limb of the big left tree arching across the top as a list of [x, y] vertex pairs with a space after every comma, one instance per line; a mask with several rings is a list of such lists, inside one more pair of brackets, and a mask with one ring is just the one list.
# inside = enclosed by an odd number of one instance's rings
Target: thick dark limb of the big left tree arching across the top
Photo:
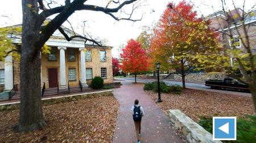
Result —
[[[104, 12], [105, 14], [109, 14], [114, 18], [115, 16], [111, 14], [111, 12], [118, 12], [118, 10], [120, 10], [123, 6], [129, 5], [130, 3], [133, 3], [137, 0], [124, 1], [118, 7], [115, 7], [115, 8], [105, 8], [105, 7], [98, 7], [94, 5], [84, 5], [84, 2], [86, 1], [87, 0], [74, 0], [69, 5], [59, 6], [59, 7], [51, 8], [49, 10], [44, 10], [39, 14], [40, 19], [38, 23], [42, 24], [43, 21], [48, 16], [60, 13], [53, 20], [51, 20], [40, 32], [38, 36], [38, 40], [35, 42], [36, 48], [33, 51], [34, 55], [36, 54], [36, 51], [41, 49], [44, 43], [52, 35], [52, 33], [55, 32], [56, 29], [60, 28], [61, 24], [63, 24], [64, 21], [67, 20], [68, 17], [73, 14], [73, 12], [77, 10], [101, 11], [101, 12]], [[129, 20], [129, 19], [123, 19], [123, 20]], [[134, 21], [138, 21], [138, 20], [134, 20]], [[92, 41], [92, 39], [88, 39], [88, 40]]]

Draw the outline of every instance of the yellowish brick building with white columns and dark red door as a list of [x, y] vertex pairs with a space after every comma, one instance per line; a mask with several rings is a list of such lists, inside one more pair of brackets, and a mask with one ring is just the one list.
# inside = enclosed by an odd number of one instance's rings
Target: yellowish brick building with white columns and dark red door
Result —
[[[71, 30], [63, 29], [69, 36], [72, 35]], [[20, 44], [20, 40], [14, 40], [14, 44]], [[112, 47], [85, 44], [85, 40], [79, 38], [67, 41], [59, 31], [53, 33], [46, 45], [51, 47], [51, 54], [41, 54], [42, 86], [45, 83], [46, 88], [59, 86], [64, 89], [68, 84], [79, 86], [80, 81], [86, 87], [95, 76], [101, 76], [104, 83], [113, 83]], [[5, 90], [14, 87], [19, 90], [19, 71], [19, 60], [7, 56], [5, 63], [0, 62], [0, 86], [4, 86]]]

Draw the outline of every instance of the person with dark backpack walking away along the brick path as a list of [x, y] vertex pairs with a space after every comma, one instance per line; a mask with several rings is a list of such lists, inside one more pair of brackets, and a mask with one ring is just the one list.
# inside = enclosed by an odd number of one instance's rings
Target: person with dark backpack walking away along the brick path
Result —
[[134, 105], [131, 107], [131, 111], [133, 111], [133, 120], [135, 125], [135, 131], [138, 143], [141, 143], [141, 120], [142, 116], [145, 115], [142, 106], [139, 106], [139, 100], [135, 99]]

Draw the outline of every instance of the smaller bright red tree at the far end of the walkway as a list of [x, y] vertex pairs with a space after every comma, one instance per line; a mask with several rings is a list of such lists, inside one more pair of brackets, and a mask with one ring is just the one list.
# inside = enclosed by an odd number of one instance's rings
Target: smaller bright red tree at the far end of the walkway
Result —
[[122, 71], [134, 73], [135, 83], [138, 72], [148, 70], [148, 57], [146, 51], [142, 49], [139, 42], [131, 39], [127, 42], [127, 45], [122, 49], [123, 53], [120, 54], [122, 58]]

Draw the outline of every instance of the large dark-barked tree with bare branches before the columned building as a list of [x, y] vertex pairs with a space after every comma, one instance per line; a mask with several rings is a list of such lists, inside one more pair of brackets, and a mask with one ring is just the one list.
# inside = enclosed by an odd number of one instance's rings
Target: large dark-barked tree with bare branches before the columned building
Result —
[[[131, 19], [131, 16], [138, 5], [141, 5], [140, 0], [127, 1], [106, 1], [105, 7], [90, 5], [88, 0], [65, 0], [64, 5], [52, 5], [55, 1], [52, 0], [22, 0], [22, 45], [16, 50], [20, 53], [20, 112], [19, 123], [15, 125], [15, 129], [19, 132], [34, 131], [42, 128], [46, 123], [43, 119], [41, 92], [40, 92], [40, 51], [43, 45], [51, 37], [56, 29], [71, 41], [73, 38], [82, 38], [86, 41], [94, 42], [101, 46], [96, 40], [90, 37], [74, 34], [68, 36], [61, 28], [69, 16], [75, 11], [98, 11], [104, 12], [115, 20], [131, 20], [138, 21], [141, 19]], [[132, 5], [133, 8], [127, 18], [118, 18], [114, 14], [118, 11], [123, 11], [122, 8], [126, 5]], [[54, 6], [54, 7], [53, 7]], [[113, 8], [109, 8], [113, 7]], [[43, 24], [49, 16], [56, 15], [55, 18]], [[8, 52], [8, 54], [11, 51]]]

